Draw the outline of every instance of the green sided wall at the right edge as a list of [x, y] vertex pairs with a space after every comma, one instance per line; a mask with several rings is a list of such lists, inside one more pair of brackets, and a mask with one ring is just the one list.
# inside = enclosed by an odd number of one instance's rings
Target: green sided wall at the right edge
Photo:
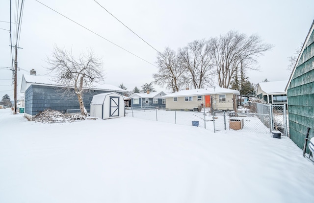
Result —
[[314, 32], [287, 90], [290, 138], [302, 149], [307, 128], [314, 133]]

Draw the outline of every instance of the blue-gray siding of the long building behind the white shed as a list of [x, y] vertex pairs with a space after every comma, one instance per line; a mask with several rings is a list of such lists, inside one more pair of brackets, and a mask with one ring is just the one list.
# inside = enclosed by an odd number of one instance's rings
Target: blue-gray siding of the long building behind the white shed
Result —
[[[90, 108], [93, 96], [110, 91], [90, 90], [83, 94], [86, 109]], [[123, 94], [122, 92], [117, 92]], [[31, 85], [25, 92], [25, 113], [36, 115], [45, 109], [66, 112], [67, 109], [79, 109], [77, 95], [62, 95], [60, 89], [51, 86]]]

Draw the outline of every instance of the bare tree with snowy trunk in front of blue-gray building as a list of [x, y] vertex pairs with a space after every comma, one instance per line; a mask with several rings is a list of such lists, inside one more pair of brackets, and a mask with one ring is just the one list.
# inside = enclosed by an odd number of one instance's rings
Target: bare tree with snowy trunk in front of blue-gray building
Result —
[[78, 96], [81, 114], [86, 110], [83, 103], [83, 92], [93, 84], [104, 80], [101, 59], [97, 58], [92, 50], [82, 52], [75, 58], [72, 51], [54, 47], [52, 57], [47, 59], [50, 65], [48, 70], [54, 73], [54, 81], [60, 85], [63, 91], [74, 93]]

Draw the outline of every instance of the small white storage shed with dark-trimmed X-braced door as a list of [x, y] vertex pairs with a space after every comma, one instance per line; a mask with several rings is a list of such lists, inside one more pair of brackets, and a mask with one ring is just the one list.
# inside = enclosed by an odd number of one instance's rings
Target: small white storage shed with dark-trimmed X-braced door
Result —
[[90, 116], [102, 119], [123, 117], [125, 114], [123, 96], [117, 92], [107, 92], [93, 96]]

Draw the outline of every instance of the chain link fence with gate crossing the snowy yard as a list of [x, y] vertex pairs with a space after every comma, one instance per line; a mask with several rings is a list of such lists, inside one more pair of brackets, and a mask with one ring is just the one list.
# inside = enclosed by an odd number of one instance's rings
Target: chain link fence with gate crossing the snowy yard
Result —
[[271, 133], [279, 130], [288, 135], [286, 105], [251, 103], [235, 112], [214, 111], [209, 108], [197, 111], [166, 111], [165, 109], [127, 109], [126, 116], [173, 124], [198, 126], [214, 132], [240, 130], [243, 132]]

